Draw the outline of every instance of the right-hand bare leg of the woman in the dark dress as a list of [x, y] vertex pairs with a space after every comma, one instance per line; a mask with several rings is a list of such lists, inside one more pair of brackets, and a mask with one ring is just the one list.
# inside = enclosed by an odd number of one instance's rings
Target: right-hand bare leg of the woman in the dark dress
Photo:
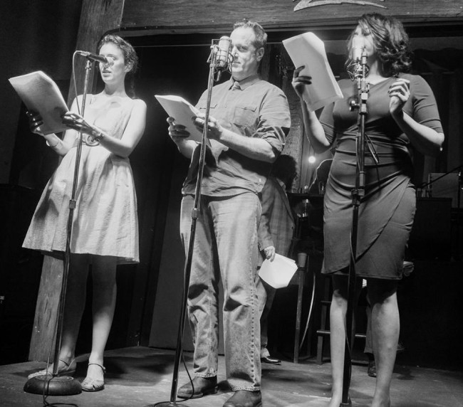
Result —
[[368, 280], [368, 297], [371, 303], [373, 353], [376, 362], [376, 388], [371, 406], [389, 407], [390, 382], [400, 332], [397, 282]]

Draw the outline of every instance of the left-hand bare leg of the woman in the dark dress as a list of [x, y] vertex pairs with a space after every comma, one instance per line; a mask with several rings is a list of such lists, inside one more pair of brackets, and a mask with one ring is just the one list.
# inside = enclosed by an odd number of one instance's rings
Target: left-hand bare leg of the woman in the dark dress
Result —
[[347, 311], [347, 283], [343, 276], [333, 276], [333, 297], [330, 307], [331, 401], [329, 407], [339, 407], [343, 398], [343, 367], [345, 348], [345, 312]]

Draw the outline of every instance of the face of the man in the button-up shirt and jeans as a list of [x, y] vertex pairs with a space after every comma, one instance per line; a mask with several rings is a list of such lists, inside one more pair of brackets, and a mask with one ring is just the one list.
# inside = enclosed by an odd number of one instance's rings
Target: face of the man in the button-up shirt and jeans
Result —
[[231, 33], [233, 63], [231, 75], [234, 80], [243, 80], [257, 73], [259, 61], [264, 56], [264, 48], [256, 48], [256, 35], [252, 28], [239, 27]]

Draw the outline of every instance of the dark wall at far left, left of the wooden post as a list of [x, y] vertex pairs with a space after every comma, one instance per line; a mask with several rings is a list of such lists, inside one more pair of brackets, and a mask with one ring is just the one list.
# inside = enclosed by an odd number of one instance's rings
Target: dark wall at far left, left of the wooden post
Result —
[[43, 140], [28, 131], [24, 105], [8, 78], [50, 75], [66, 98], [80, 0], [0, 2], [0, 363], [27, 360], [42, 256], [21, 249], [41, 190], [56, 168]]

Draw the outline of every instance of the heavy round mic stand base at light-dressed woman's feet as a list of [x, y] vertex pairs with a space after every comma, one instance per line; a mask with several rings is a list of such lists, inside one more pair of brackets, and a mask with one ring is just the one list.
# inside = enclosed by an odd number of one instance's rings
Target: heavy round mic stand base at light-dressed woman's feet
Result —
[[46, 396], [73, 396], [82, 393], [82, 385], [80, 381], [71, 376], [43, 374], [28, 379], [24, 384], [24, 391]]

